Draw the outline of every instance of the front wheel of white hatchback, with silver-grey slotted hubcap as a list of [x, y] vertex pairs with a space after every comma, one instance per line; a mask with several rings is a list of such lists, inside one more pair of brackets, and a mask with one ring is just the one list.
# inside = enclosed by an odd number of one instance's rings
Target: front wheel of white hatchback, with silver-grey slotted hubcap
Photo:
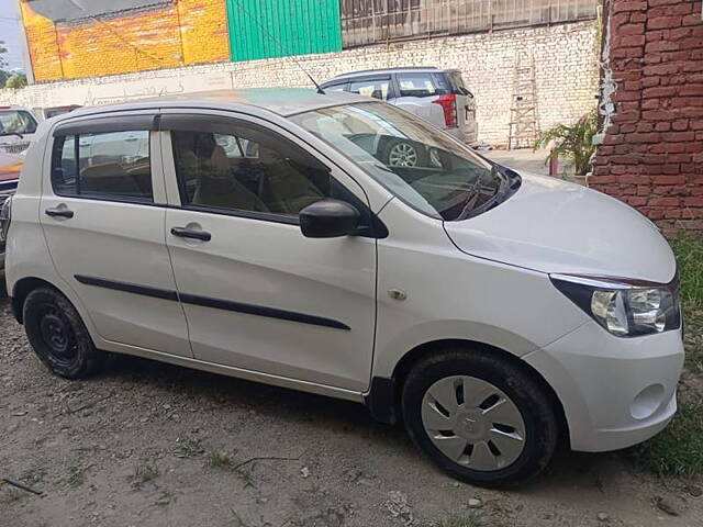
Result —
[[468, 483], [528, 480], [557, 445], [558, 422], [544, 388], [490, 352], [447, 350], [421, 361], [405, 380], [402, 406], [415, 444]]

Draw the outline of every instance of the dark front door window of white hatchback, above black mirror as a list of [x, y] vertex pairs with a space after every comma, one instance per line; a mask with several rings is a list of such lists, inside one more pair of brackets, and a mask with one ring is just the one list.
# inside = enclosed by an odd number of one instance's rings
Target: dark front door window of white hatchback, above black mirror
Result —
[[174, 130], [171, 143], [186, 206], [297, 221], [302, 209], [324, 198], [348, 201], [316, 158], [256, 126]]

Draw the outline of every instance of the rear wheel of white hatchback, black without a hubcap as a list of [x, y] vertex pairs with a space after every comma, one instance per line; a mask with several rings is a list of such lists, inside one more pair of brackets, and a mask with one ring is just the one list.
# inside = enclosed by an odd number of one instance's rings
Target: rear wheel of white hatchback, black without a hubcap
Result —
[[100, 370], [105, 355], [96, 349], [80, 315], [66, 296], [52, 288], [27, 294], [24, 330], [46, 367], [66, 379], [82, 379]]

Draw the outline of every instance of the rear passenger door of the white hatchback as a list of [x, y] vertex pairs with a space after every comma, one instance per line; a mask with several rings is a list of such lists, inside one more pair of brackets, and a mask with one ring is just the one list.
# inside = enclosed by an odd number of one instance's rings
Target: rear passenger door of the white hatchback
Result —
[[191, 357], [154, 121], [121, 114], [54, 128], [40, 221], [58, 274], [103, 339]]

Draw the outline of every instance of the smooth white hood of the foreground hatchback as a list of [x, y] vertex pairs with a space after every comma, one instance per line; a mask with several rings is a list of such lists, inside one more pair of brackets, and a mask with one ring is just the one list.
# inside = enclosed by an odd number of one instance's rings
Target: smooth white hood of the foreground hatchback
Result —
[[470, 220], [445, 222], [464, 253], [537, 271], [667, 283], [669, 244], [639, 212], [606, 194], [555, 178], [523, 175], [520, 190]]

